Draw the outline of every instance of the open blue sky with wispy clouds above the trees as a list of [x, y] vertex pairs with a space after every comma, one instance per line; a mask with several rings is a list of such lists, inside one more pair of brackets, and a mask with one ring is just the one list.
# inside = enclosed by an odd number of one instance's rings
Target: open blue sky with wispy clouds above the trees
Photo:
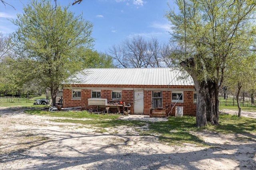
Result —
[[[22, 14], [23, 4], [29, 1], [4, 1], [16, 8], [14, 10], [0, 2], [0, 31], [5, 35], [16, 29], [8, 19], [15, 19], [17, 13]], [[170, 22], [164, 14], [169, 10], [167, 3], [174, 7], [174, 0], [83, 0], [72, 6], [73, 2], [57, 0], [62, 6], [70, 5], [69, 10], [75, 15], [83, 13], [83, 18], [93, 23], [94, 49], [98, 52], [108, 53], [112, 45], [137, 35], [145, 39], [157, 38], [160, 43], [170, 39]]]

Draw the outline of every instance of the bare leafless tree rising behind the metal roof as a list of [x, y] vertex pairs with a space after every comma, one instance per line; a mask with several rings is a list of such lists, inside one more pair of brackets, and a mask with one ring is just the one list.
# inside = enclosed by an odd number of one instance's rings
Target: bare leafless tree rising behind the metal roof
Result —
[[136, 36], [113, 45], [109, 53], [117, 67], [172, 67], [175, 61], [170, 57], [174, 49], [171, 45], [161, 45], [156, 38], [146, 40]]

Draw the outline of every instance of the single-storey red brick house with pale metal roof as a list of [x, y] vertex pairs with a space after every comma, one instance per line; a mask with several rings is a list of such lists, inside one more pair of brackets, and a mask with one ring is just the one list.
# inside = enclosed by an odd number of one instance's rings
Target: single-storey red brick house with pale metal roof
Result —
[[194, 82], [180, 68], [88, 68], [76, 78], [63, 86], [64, 108], [101, 98], [130, 104], [130, 114], [149, 115], [149, 108], [172, 104], [170, 115], [176, 107], [183, 107], [183, 115], [196, 115]]

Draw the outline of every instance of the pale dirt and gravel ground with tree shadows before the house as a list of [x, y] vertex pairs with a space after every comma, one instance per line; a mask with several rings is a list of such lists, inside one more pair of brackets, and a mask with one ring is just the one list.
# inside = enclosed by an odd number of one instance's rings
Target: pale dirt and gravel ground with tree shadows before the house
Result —
[[[242, 112], [242, 116], [255, 118], [256, 113]], [[255, 134], [193, 133], [212, 147], [178, 147], [162, 144], [154, 135], [139, 135], [147, 126], [110, 128], [107, 133], [97, 133], [95, 127], [56, 123], [52, 119], [60, 118], [0, 108], [0, 170], [256, 169]], [[167, 121], [144, 115], [120, 119]], [[252, 140], [245, 140], [248, 137]]]

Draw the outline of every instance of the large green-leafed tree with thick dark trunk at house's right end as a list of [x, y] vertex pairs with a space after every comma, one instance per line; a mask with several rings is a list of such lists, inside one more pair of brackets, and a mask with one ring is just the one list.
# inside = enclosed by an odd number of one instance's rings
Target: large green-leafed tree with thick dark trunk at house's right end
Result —
[[[176, 0], [178, 12], [166, 17], [172, 40], [184, 47], [180, 65], [196, 88], [196, 126], [218, 124], [218, 94], [232, 57], [251, 46], [255, 31], [254, 0]], [[239, 67], [239, 65], [237, 65]]]

